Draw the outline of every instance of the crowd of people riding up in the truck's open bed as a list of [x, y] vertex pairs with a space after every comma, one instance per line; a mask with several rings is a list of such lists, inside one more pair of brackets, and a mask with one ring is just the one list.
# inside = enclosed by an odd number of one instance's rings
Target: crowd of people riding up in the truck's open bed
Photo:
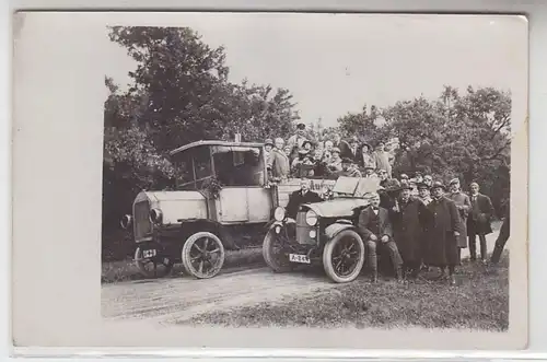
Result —
[[384, 142], [372, 148], [357, 137], [344, 140], [334, 135], [331, 140], [314, 142], [305, 125], [296, 126], [295, 135], [286, 142], [282, 138], [265, 140], [266, 163], [270, 177], [337, 178], [392, 176], [393, 154], [385, 150]]

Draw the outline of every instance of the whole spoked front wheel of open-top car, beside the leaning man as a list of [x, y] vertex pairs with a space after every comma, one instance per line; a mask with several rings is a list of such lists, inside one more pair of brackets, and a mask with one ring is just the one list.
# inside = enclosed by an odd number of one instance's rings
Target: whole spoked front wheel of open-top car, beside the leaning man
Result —
[[337, 283], [353, 281], [364, 264], [364, 244], [352, 230], [345, 230], [325, 245], [323, 267]]

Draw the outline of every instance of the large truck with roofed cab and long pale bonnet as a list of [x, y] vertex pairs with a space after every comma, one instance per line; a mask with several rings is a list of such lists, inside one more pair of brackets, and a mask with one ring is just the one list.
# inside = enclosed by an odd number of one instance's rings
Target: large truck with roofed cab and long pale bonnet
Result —
[[[275, 208], [300, 184], [271, 187], [263, 143], [197, 141], [173, 150], [171, 161], [176, 189], [141, 191], [121, 220], [132, 225], [135, 261], [147, 278], [166, 276], [176, 262], [196, 278], [214, 277], [225, 250], [244, 235], [261, 240]], [[314, 188], [334, 183], [316, 179]]]

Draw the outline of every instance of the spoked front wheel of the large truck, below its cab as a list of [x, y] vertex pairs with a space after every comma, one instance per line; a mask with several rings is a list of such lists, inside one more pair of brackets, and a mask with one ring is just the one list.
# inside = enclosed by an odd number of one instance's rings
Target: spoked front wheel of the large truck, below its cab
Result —
[[224, 265], [224, 246], [217, 235], [208, 232], [188, 237], [182, 254], [184, 269], [198, 279], [217, 276]]

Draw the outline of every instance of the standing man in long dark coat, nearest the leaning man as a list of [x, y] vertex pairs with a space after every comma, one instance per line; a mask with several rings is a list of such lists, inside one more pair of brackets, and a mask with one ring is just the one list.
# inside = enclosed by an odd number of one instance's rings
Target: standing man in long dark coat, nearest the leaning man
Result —
[[394, 238], [404, 262], [405, 276], [417, 278], [422, 260], [423, 224], [427, 207], [410, 196], [410, 186], [401, 186], [397, 203], [392, 209]]

